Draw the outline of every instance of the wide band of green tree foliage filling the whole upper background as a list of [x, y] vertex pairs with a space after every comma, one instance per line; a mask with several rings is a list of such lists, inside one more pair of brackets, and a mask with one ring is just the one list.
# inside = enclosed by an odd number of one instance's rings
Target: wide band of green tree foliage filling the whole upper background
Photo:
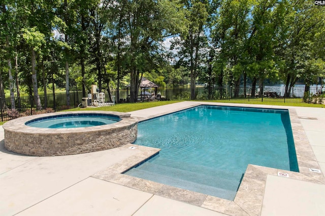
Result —
[[[17, 92], [16, 77], [25, 93], [33, 85], [45, 90], [52, 74], [55, 87], [69, 81], [71, 89], [85, 91], [91, 84], [117, 88], [117, 80], [120, 88], [130, 82], [135, 88], [140, 74], [161, 88], [191, 82], [192, 99], [198, 80], [323, 86], [322, 9], [294, 0], [5, 0], [0, 92]], [[169, 51], [162, 46], [166, 38], [173, 38]]]

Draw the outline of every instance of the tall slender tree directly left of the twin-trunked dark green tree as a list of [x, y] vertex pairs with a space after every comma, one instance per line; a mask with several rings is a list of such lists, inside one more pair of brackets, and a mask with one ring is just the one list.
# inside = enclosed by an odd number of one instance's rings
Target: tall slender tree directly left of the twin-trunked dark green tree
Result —
[[[227, 77], [235, 87], [235, 97], [239, 94], [240, 78], [246, 80], [247, 52], [245, 42], [249, 34], [253, 1], [222, 1], [218, 19], [213, 31], [214, 43], [218, 49], [217, 65], [220, 68], [219, 82]], [[229, 78], [228, 78], [229, 77]]]

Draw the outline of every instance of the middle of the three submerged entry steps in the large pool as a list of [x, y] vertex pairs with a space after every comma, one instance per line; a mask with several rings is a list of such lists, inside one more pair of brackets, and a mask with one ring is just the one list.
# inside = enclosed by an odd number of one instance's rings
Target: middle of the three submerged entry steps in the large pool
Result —
[[154, 163], [144, 163], [139, 166], [138, 169], [149, 171], [152, 173], [156, 173], [158, 170], [159, 175], [182, 179], [211, 187], [228, 189], [231, 191], [237, 191], [239, 185], [239, 180], [237, 179], [226, 179], [222, 176], [210, 176], [208, 174], [196, 173]]

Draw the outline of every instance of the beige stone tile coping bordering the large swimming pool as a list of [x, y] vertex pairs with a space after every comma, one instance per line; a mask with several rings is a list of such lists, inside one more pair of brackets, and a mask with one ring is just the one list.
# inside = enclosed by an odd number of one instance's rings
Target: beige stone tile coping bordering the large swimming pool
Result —
[[[204, 104], [207, 105], [208, 103]], [[198, 105], [201, 104], [198, 103], [197, 105], [188, 106], [186, 108]], [[320, 167], [305, 135], [304, 128], [301, 125], [296, 110], [291, 108], [289, 108], [288, 110], [291, 120], [291, 127], [293, 129], [296, 154], [300, 172], [293, 172], [248, 164], [247, 169], [245, 171], [245, 175], [242, 179], [234, 201], [221, 199], [218, 197], [188, 191], [122, 174], [124, 171], [137, 166], [139, 163], [144, 162], [146, 159], [152, 157], [153, 155], [156, 155], [159, 152], [159, 149], [138, 146], [134, 144], [127, 144], [121, 148], [128, 149], [132, 147], [132, 149], [129, 150], [137, 150], [138, 153], [136, 155], [133, 155], [119, 163], [116, 163], [106, 168], [105, 170], [98, 172], [97, 174], [93, 175], [93, 177], [123, 185], [129, 188], [138, 189], [144, 192], [204, 207], [224, 214], [236, 216], [260, 215], [267, 175], [278, 176], [278, 172], [280, 172], [282, 174], [288, 174], [288, 178], [290, 179], [307, 181], [317, 184], [325, 184], [325, 179], [321, 173], [310, 171], [309, 168], [320, 169]], [[150, 117], [152, 118], [157, 116], [159, 116], [159, 114], [152, 115]]]

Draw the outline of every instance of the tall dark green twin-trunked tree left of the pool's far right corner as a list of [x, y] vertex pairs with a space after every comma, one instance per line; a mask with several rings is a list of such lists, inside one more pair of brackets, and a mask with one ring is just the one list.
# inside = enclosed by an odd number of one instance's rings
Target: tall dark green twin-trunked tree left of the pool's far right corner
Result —
[[[279, 6], [280, 4], [280, 6]], [[272, 78], [276, 73], [274, 48], [278, 27], [282, 24], [283, 13], [279, 10], [281, 2], [277, 0], [258, 0], [252, 9], [252, 25], [247, 38], [246, 49], [250, 57], [248, 76], [253, 80], [251, 96], [255, 96], [255, 86], [258, 81], [259, 93], [263, 94], [263, 81]]]

